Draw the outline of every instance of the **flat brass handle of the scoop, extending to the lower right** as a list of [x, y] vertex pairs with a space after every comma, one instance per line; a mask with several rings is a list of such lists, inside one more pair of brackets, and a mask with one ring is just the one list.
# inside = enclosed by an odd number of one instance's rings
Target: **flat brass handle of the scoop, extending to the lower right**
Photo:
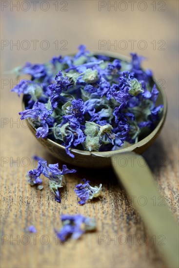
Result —
[[155, 236], [155, 244], [167, 267], [178, 268], [179, 227], [163, 202], [146, 161], [141, 155], [129, 152], [112, 156], [111, 162], [145, 226]]

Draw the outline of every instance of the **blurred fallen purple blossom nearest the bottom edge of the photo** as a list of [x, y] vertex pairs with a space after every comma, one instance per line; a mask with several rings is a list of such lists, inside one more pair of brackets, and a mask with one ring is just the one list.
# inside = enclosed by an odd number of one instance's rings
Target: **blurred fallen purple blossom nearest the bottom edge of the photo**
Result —
[[62, 241], [68, 238], [78, 239], [87, 231], [96, 230], [96, 221], [93, 218], [86, 218], [81, 214], [77, 215], [61, 215], [63, 227], [60, 231], [55, 229], [57, 237]]

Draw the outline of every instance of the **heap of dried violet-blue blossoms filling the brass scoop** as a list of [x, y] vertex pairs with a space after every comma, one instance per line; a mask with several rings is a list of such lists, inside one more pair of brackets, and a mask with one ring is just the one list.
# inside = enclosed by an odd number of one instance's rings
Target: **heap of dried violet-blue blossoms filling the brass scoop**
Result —
[[141, 68], [143, 58], [131, 57], [94, 55], [80, 45], [74, 56], [17, 68], [18, 76], [31, 77], [12, 89], [25, 95], [21, 119], [30, 118], [37, 138], [64, 145], [71, 157], [70, 148], [103, 152], [138, 142], [155, 128], [163, 105], [156, 105], [159, 91], [152, 72]]

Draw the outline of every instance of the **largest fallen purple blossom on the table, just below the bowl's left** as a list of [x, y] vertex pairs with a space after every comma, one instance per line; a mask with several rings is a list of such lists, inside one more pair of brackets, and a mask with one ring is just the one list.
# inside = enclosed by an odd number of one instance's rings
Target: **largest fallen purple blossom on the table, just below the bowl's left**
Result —
[[27, 173], [27, 180], [28, 183], [33, 186], [37, 185], [38, 189], [42, 189], [42, 178], [40, 177], [41, 174], [43, 174], [45, 177], [47, 177], [50, 190], [55, 195], [55, 200], [57, 202], [61, 202], [60, 199], [60, 188], [63, 187], [63, 175], [67, 173], [75, 173], [76, 170], [69, 170], [66, 165], [63, 165], [62, 170], [59, 169], [59, 164], [49, 164], [47, 165], [47, 161], [41, 157], [34, 156], [34, 159], [38, 161], [38, 167], [37, 169], [30, 170]]

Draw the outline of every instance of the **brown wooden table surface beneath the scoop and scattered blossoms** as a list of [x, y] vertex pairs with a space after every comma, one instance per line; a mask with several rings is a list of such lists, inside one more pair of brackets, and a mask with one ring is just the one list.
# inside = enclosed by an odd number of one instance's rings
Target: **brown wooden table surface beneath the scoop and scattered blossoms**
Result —
[[[14, 6], [17, 2], [19, 10]], [[168, 97], [167, 120], [159, 138], [143, 156], [154, 173], [161, 196], [174, 217], [179, 217], [179, 2], [136, 1], [133, 11], [130, 1], [116, 1], [116, 11], [110, 6], [114, 2], [39, 1], [35, 10], [30, 0], [1, 1], [2, 268], [166, 267], [155, 248], [161, 239], [157, 237], [155, 241], [153, 234], [146, 230], [111, 169], [77, 168], [76, 174], [66, 175], [61, 204], [54, 201], [47, 180], [44, 190], [37, 191], [25, 179], [26, 172], [34, 168], [33, 155], [46, 157], [49, 163], [58, 160], [40, 145], [25, 122], [20, 123], [20, 98], [10, 93], [17, 79], [5, 72], [26, 61], [40, 63], [54, 55], [74, 52], [81, 43], [90, 50], [98, 50], [103, 40], [103, 44], [106, 43], [101, 47], [103, 50], [126, 56], [135, 51], [146, 56], [144, 67], [151, 68], [163, 84]], [[37, 40], [36, 47], [32, 40]], [[129, 40], [136, 40], [134, 50]], [[115, 42], [118, 47], [112, 46]], [[102, 196], [79, 206], [73, 189], [83, 178], [92, 184], [102, 183]], [[162, 200], [157, 200], [156, 205], [159, 201]], [[61, 213], [95, 217], [98, 230], [84, 234], [78, 241], [60, 244], [54, 228], [60, 228]], [[25, 230], [29, 225], [37, 228], [36, 236]]]

